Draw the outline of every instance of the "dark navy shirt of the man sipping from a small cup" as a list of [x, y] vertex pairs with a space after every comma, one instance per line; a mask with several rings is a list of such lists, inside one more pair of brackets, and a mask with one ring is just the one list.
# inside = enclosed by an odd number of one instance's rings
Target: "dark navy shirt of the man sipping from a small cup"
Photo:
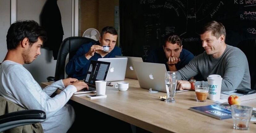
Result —
[[[91, 60], [98, 60], [99, 58], [102, 58], [99, 53], [94, 53], [94, 55], [87, 60], [84, 56], [87, 52], [89, 52], [91, 46], [95, 43], [88, 43], [88, 44], [83, 44], [76, 52], [74, 57], [69, 60], [67, 66], [66, 66], [66, 73], [78, 80], [83, 80], [85, 78], [85, 74], [87, 74], [87, 70], [90, 65]], [[121, 49], [117, 46], [108, 53], [106, 56], [103, 58], [115, 58], [115, 56], [121, 56]]]

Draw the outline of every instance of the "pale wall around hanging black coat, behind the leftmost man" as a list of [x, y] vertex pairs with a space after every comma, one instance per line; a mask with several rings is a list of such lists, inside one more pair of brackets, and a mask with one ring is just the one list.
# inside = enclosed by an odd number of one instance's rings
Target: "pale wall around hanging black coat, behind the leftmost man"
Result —
[[[35, 20], [39, 23], [40, 13], [45, 2], [46, 0], [17, 0], [17, 20]], [[64, 30], [63, 39], [71, 36], [71, 2], [71, 0], [58, 1]], [[10, 1], [0, 0], [0, 18], [0, 60], [2, 62], [7, 52], [6, 34], [10, 26]], [[25, 64], [24, 67], [40, 83], [46, 82], [46, 77], [54, 76], [56, 62], [53, 60], [52, 51], [41, 49], [41, 55], [33, 63]]]

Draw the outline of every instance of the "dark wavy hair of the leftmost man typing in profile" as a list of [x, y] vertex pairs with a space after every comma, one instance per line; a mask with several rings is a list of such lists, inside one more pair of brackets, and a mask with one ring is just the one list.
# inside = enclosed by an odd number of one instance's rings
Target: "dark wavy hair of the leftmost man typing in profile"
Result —
[[7, 49], [16, 49], [20, 42], [28, 38], [32, 46], [40, 38], [43, 42], [47, 39], [46, 32], [34, 20], [17, 21], [13, 23], [6, 35]]

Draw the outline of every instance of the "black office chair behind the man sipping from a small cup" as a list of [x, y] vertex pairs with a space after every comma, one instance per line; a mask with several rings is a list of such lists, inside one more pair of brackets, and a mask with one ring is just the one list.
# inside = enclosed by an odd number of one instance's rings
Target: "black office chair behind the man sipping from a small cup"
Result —
[[[76, 51], [81, 45], [96, 41], [85, 37], [68, 37], [61, 43], [58, 59], [55, 69], [55, 77], [47, 77], [48, 81], [58, 81], [60, 79], [65, 79], [65, 62], [69, 54], [69, 59], [72, 59], [76, 54]], [[55, 79], [54, 79], [55, 78]]]

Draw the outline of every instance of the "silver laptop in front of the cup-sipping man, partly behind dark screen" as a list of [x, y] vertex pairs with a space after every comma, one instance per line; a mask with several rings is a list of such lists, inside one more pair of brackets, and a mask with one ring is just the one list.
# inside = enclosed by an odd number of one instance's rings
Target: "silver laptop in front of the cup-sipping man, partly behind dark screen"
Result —
[[111, 63], [106, 81], [123, 81], [125, 79], [127, 58], [100, 58], [98, 60]]

